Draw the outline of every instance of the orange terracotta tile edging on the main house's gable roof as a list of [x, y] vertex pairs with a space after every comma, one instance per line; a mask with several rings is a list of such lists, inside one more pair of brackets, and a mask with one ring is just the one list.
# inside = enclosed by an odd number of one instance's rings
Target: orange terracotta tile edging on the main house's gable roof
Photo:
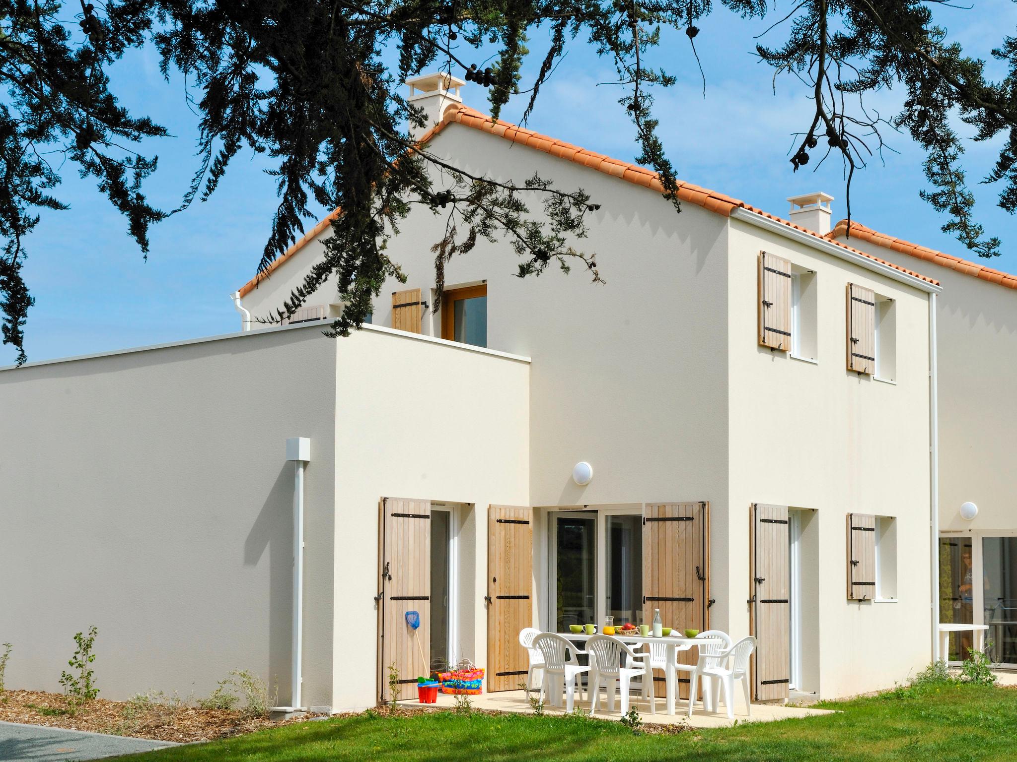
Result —
[[[533, 130], [527, 129], [526, 127], [520, 127], [519, 125], [511, 124], [508, 122], [502, 122], [501, 120], [494, 121], [491, 117], [486, 114], [481, 114], [478, 111], [467, 106], [452, 105], [444, 111], [444, 116], [441, 122], [436, 124], [434, 127], [429, 129], [420, 138], [418, 145], [426, 145], [435, 135], [437, 135], [441, 130], [447, 127], [450, 124], [460, 124], [465, 127], [472, 127], [473, 129], [480, 130], [481, 132], [486, 132], [488, 134], [497, 135], [506, 140], [512, 140], [516, 143], [522, 143], [536, 150], [541, 150], [553, 156], [558, 156], [569, 162], [575, 164], [583, 165], [589, 167], [590, 169], [597, 170], [606, 175], [625, 180], [635, 185], [642, 186], [644, 188], [649, 188], [650, 190], [656, 191], [658, 193], [664, 192], [663, 183], [661, 183], [660, 178], [652, 170], [648, 170], [645, 167], [640, 167], [639, 165], [629, 164], [627, 162], [621, 162], [617, 158], [611, 158], [610, 156], [605, 156], [603, 153], [597, 153], [596, 151], [587, 150], [578, 145], [573, 145], [563, 140], [557, 140], [553, 137], [548, 137], [547, 135], [541, 135], [540, 133], [534, 132]], [[858, 251], [850, 246], [840, 243], [834, 240], [834, 237], [830, 234], [827, 236], [821, 236], [814, 231], [801, 228], [797, 225], [793, 225], [786, 219], [783, 219], [773, 214], [769, 214], [762, 209], [758, 209], [755, 206], [746, 204], [744, 201], [739, 201], [736, 198], [727, 196], [723, 193], [718, 193], [712, 191], [708, 188], [701, 188], [698, 185], [693, 185], [692, 183], [678, 182], [677, 183], [677, 196], [680, 201], [687, 201], [689, 203], [702, 206], [709, 211], [716, 212], [723, 216], [730, 216], [731, 212], [735, 209], [747, 209], [749, 211], [765, 216], [769, 219], [776, 220], [782, 225], [786, 225], [797, 231], [807, 233], [809, 235], [815, 236], [818, 239], [827, 241], [834, 244], [835, 246], [840, 246], [848, 251], [854, 252], [855, 254], [860, 254], [863, 257], [872, 259], [873, 261], [879, 262], [880, 264], [887, 265], [888, 267], [893, 267], [896, 270], [905, 272], [912, 277], [916, 277], [920, 280], [924, 280], [930, 283], [939, 284], [939, 281], [925, 277], [913, 270], [909, 270], [906, 267], [901, 267], [899, 265], [893, 264], [892, 262], [887, 262], [879, 257], [874, 257], [872, 254], [866, 254], [863, 251]], [[279, 267], [283, 262], [288, 260], [297, 251], [299, 251], [306, 243], [312, 241], [322, 231], [328, 226], [328, 224], [335, 218], [338, 213], [338, 209], [327, 217], [318, 223], [314, 228], [312, 228], [307, 235], [300, 239], [297, 243], [291, 246], [283, 256], [276, 259], [270, 266], [266, 273], [259, 273], [253, 278], [247, 281], [247, 283], [240, 290], [240, 296], [246, 296], [249, 294], [264, 277], [267, 277], [277, 267]], [[869, 230], [868, 228], [864, 230]], [[852, 226], [852, 233], [854, 232], [854, 227]], [[871, 234], [875, 235], [875, 232], [870, 231]], [[913, 246], [913, 244], [909, 244]], [[928, 250], [932, 251], [932, 250]], [[910, 252], [908, 252], [910, 253]], [[928, 257], [925, 257], [928, 258]], [[1012, 288], [1017, 288], [1017, 281]]]

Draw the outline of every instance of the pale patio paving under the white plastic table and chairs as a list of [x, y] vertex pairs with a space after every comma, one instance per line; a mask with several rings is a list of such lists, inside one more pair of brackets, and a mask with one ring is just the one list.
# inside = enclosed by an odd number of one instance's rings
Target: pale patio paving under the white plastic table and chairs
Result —
[[[520, 714], [533, 713], [533, 709], [526, 700], [525, 691], [483, 693], [479, 696], [470, 696], [470, 701], [475, 709], [516, 712]], [[421, 704], [416, 699], [411, 701], [402, 701], [400, 703], [407, 706], [435, 706], [435, 704]], [[443, 708], [453, 708], [456, 705], [456, 697], [439, 693], [436, 705]], [[601, 701], [600, 706], [597, 709], [596, 716], [604, 719], [620, 719], [621, 712], [617, 711], [619, 705], [620, 701], [615, 700], [615, 711], [609, 712], [604, 708], [604, 702]], [[834, 713], [830, 709], [817, 709], [811, 706], [800, 707], [784, 706], [782, 704], [753, 704], [753, 715], [750, 717], [745, 708], [744, 699], [741, 696], [738, 696], [737, 700], [734, 702], [734, 719], [727, 718], [727, 714], [723, 706], [721, 707], [721, 712], [719, 714], [704, 713], [701, 702], [696, 703], [692, 717], [685, 715], [684, 709], [687, 707], [687, 703], [683, 701], [679, 705], [678, 713], [673, 715], [664, 713], [663, 698], [657, 699], [656, 714], [650, 713], [650, 707], [645, 701], [634, 701], [631, 705], [635, 706], [639, 710], [640, 714], [643, 716], [644, 722], [680, 724], [687, 721], [690, 727], [727, 727], [733, 725], [735, 722], [738, 722], [739, 724], [743, 722], [773, 722], [778, 719], [812, 717], [820, 714]], [[590, 702], [577, 700], [576, 706], [589, 711]], [[545, 704], [544, 711], [547, 714], [561, 714], [563, 713], [563, 707], [553, 707]]]

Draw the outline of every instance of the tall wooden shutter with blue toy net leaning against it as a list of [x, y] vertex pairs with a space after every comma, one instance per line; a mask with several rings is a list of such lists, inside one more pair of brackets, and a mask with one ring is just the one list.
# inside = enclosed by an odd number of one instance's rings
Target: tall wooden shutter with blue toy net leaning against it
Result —
[[[397, 700], [415, 698], [417, 677], [426, 677], [430, 672], [430, 501], [398, 498], [381, 501], [378, 696], [382, 703], [392, 700], [388, 670], [393, 663], [399, 671]], [[406, 613], [411, 611], [420, 616], [416, 637], [406, 623]]]

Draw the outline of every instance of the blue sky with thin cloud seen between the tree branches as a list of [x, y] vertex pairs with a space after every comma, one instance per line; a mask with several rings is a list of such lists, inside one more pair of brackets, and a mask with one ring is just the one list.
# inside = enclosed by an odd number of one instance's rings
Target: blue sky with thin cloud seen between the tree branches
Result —
[[[937, 17], [952, 39], [989, 58], [993, 45], [1017, 25], [1017, 6], [1010, 0], [990, 0], [977, 2], [972, 10], [940, 7]], [[797, 174], [790, 171], [791, 133], [807, 127], [811, 103], [791, 78], [778, 79], [774, 91], [771, 71], [752, 55], [754, 36], [769, 23], [741, 21], [719, 8], [699, 24], [696, 42], [707, 77], [705, 99], [684, 35], [665, 38], [654, 62], [677, 75], [678, 83], [657, 92], [660, 134], [683, 180], [781, 215], [787, 213], [787, 196], [823, 190], [835, 196], [834, 215], [840, 218], [845, 207], [839, 162], [829, 162], [815, 173], [813, 164]], [[781, 40], [780, 27], [763, 38], [771, 45]], [[539, 34], [530, 48], [534, 60], [525, 67], [524, 78], [532, 80], [543, 53]], [[999, 71], [990, 64], [991, 73]], [[177, 76], [167, 84], [151, 51], [132, 54], [112, 73], [123, 103], [137, 114], [151, 115], [174, 135], [145, 146], [159, 154], [161, 165], [148, 184], [149, 197], [172, 208], [196, 163], [197, 120], [187, 108], [183, 79]], [[541, 93], [529, 126], [632, 161], [637, 150], [633, 127], [615, 103], [620, 93], [616, 86], [598, 84], [614, 78], [609, 60], [577, 43]], [[486, 91], [477, 85], [466, 86], [464, 100], [487, 110]], [[869, 106], [889, 116], [901, 100], [898, 91], [879, 93]], [[522, 98], [514, 100], [503, 118], [518, 121], [524, 106]], [[855, 174], [853, 217], [909, 241], [968, 256], [940, 232], [942, 220], [918, 198], [918, 189], [924, 187], [920, 151], [904, 135], [891, 132], [886, 141], [897, 152], [885, 151], [885, 164], [876, 158]], [[1015, 272], [1017, 225], [995, 205], [998, 189], [977, 185], [993, 164], [994, 147], [969, 146], [968, 180], [986, 232], [1004, 242], [1003, 256], [989, 264]], [[73, 168], [66, 167], [57, 195], [71, 208], [44, 211], [26, 242], [24, 276], [36, 297], [26, 326], [29, 361], [237, 330], [239, 319], [228, 294], [253, 274], [268, 234], [276, 195], [272, 178], [263, 172], [267, 167], [249, 152], [238, 157], [212, 199], [153, 230], [147, 262], [127, 237], [123, 217], [95, 191], [92, 181], [78, 179]], [[515, 269], [511, 254], [505, 267]], [[920, 265], [916, 268], [920, 271]], [[13, 360], [10, 346], [0, 347], [0, 365]]]

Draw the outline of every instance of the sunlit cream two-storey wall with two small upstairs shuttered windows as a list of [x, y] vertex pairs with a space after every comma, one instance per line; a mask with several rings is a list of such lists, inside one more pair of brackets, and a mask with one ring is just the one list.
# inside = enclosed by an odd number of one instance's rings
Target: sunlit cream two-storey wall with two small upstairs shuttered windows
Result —
[[[758, 345], [761, 249], [817, 273], [816, 364]], [[816, 509], [803, 576], [818, 580], [818, 611], [803, 612], [802, 629], [807, 642], [819, 627], [820, 652], [803, 687], [823, 697], [890, 687], [932, 655], [928, 295], [740, 220], [728, 282], [732, 630], [749, 627], [750, 504]], [[847, 282], [897, 300], [895, 384], [846, 369]], [[849, 512], [897, 518], [897, 602], [847, 600]]]

